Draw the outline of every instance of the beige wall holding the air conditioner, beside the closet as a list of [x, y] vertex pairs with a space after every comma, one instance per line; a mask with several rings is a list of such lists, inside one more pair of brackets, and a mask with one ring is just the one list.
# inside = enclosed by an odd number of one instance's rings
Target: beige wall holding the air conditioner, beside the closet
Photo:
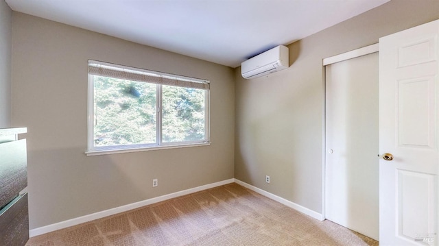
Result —
[[252, 80], [236, 69], [235, 177], [322, 212], [322, 59], [439, 19], [438, 10], [436, 0], [392, 0], [289, 45], [289, 69]]

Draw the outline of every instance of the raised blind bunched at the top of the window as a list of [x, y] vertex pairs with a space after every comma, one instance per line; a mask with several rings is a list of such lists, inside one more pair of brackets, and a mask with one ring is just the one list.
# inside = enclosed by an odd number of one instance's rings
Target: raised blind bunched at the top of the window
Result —
[[202, 79], [194, 79], [182, 76], [164, 75], [155, 71], [133, 70], [124, 66], [115, 64], [106, 64], [104, 62], [88, 61], [88, 74], [105, 77], [115, 77], [118, 79], [128, 79], [139, 82], [152, 84], [163, 84], [168, 86], [179, 86], [185, 88], [197, 88], [209, 90], [210, 84]]

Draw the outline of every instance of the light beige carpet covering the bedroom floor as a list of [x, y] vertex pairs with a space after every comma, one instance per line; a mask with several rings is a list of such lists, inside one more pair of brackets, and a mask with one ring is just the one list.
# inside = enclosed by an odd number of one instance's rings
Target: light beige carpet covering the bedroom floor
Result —
[[238, 184], [30, 238], [34, 245], [378, 245]]

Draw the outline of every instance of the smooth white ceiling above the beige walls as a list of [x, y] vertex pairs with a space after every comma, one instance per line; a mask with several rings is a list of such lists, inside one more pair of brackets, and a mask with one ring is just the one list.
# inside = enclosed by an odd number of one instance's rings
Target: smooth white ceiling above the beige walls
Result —
[[390, 0], [5, 0], [12, 10], [236, 67]]

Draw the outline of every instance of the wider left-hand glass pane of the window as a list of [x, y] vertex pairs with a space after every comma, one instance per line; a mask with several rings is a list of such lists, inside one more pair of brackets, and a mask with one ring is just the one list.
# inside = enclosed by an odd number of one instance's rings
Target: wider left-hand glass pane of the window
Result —
[[156, 143], [156, 85], [93, 78], [95, 147]]

